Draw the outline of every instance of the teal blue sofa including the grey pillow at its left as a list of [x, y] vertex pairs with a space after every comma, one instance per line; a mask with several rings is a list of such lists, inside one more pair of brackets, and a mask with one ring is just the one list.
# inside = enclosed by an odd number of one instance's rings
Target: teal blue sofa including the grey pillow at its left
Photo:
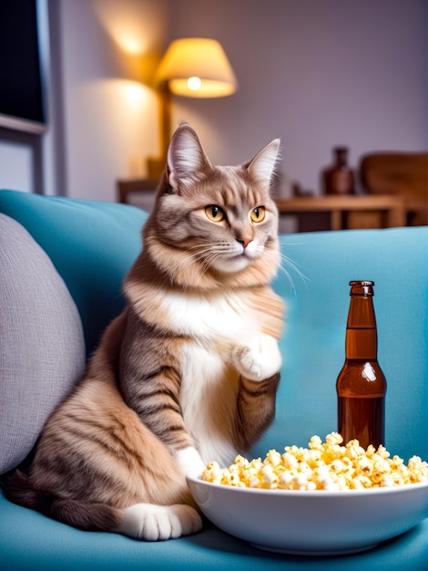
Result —
[[[75, 382], [99, 332], [123, 306], [121, 280], [138, 254], [146, 217], [123, 204], [0, 192], [0, 279], [13, 276], [10, 287], [0, 288], [0, 321], [5, 315], [10, 320], [7, 327], [0, 323], [4, 471], [29, 452], [50, 408]], [[406, 462], [413, 454], [428, 459], [428, 228], [291, 234], [280, 241], [284, 270], [274, 288], [286, 299], [288, 316], [280, 341], [277, 414], [251, 455], [292, 443], [306, 446], [311, 435], [323, 438], [336, 430], [335, 380], [344, 358], [348, 284], [370, 279], [376, 283], [379, 360], [388, 380], [386, 445]], [[40, 301], [46, 280], [57, 287]], [[30, 308], [25, 307], [29, 295], [34, 297]], [[22, 343], [37, 327], [39, 333], [22, 347], [8, 346], [11, 336], [15, 345]], [[10, 364], [13, 355], [20, 356], [15, 365]], [[29, 364], [20, 369], [25, 359]], [[14, 367], [20, 370], [11, 381]], [[61, 379], [56, 381], [56, 375]], [[1, 571], [244, 568], [426, 570], [428, 519], [371, 551], [305, 557], [263, 552], [209, 523], [197, 535], [160, 543], [82, 532], [10, 504], [0, 493]]]

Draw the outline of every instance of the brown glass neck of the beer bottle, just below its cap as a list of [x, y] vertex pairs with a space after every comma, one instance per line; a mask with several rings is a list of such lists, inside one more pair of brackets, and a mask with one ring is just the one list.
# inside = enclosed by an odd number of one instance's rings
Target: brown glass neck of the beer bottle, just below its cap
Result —
[[376, 318], [372, 296], [352, 296], [346, 326], [347, 359], [377, 359]]

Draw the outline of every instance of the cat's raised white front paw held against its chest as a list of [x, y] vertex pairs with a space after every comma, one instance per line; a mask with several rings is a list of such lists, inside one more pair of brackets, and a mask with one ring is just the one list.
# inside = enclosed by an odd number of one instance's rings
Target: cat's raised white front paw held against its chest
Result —
[[278, 343], [264, 333], [250, 346], [234, 348], [232, 358], [239, 373], [250, 380], [269, 379], [280, 370]]

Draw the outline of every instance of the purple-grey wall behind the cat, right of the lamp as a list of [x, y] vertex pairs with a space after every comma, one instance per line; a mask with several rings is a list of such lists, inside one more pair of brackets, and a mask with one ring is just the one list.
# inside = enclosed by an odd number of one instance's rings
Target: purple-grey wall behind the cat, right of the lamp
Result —
[[425, 0], [180, 0], [173, 39], [213, 36], [239, 78], [230, 99], [176, 99], [219, 162], [280, 137], [283, 169], [319, 190], [331, 148], [427, 149]]

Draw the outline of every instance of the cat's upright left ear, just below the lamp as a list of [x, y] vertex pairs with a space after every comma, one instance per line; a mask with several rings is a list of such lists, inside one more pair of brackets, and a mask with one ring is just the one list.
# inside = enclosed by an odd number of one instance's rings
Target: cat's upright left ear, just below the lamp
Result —
[[181, 123], [168, 147], [169, 184], [177, 190], [178, 182], [192, 182], [210, 166], [196, 131], [188, 123]]

